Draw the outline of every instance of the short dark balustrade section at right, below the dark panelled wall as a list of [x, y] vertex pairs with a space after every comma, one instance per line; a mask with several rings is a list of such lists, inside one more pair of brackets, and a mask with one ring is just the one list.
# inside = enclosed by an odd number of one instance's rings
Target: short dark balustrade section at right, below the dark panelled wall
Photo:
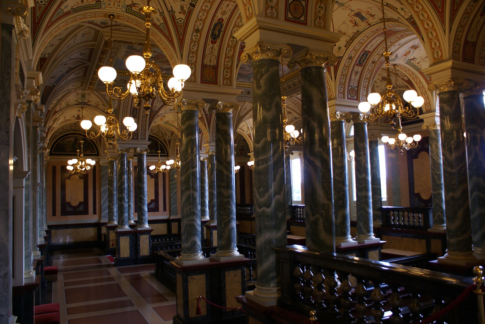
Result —
[[433, 227], [433, 208], [382, 206], [382, 226], [426, 230]]

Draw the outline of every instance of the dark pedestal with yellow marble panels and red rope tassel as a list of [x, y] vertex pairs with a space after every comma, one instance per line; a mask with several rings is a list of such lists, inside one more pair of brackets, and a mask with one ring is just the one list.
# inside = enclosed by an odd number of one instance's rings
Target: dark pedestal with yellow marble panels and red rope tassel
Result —
[[[209, 260], [209, 259], [208, 259]], [[174, 324], [224, 323], [231, 324], [244, 318], [237, 310], [220, 309], [200, 299], [200, 314], [197, 314], [198, 296], [223, 307], [239, 307], [236, 296], [245, 291], [244, 267], [249, 259], [237, 261], [211, 261], [205, 265], [182, 266], [172, 261], [176, 272], [176, 315]]]

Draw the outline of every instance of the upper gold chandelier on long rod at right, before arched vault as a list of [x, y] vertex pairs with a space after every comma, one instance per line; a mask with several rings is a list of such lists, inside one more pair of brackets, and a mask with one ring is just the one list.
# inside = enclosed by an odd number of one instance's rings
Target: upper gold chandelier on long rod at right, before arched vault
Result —
[[[404, 91], [403, 99], [408, 102], [408, 105], [404, 105], [399, 97], [399, 93], [397, 92], [397, 83], [396, 89], [393, 90], [392, 81], [390, 78], [389, 72], [389, 57], [392, 55], [392, 52], [388, 50], [388, 40], [386, 36], [386, 20], [384, 16], [384, 0], [381, 0], [381, 7], [382, 7], [382, 21], [384, 24], [384, 42], [386, 44], [386, 50], [382, 54], [384, 56], [386, 62], [386, 69], [387, 69], [387, 80], [386, 80], [386, 90], [381, 95], [378, 92], [369, 93], [367, 96], [367, 101], [361, 102], [358, 105], [358, 109], [362, 113], [367, 113], [369, 110], [372, 111], [371, 114], [366, 116], [366, 120], [368, 122], [375, 122], [381, 118], [389, 118], [390, 122], [389, 125], [394, 129], [394, 118], [409, 118], [413, 119], [418, 117], [417, 110], [415, 111], [413, 107], [419, 108], [423, 105], [424, 99], [421, 96], [418, 96], [418, 93], [415, 90], [407, 90]], [[394, 66], [395, 68], [395, 66]], [[397, 74], [396, 74], [396, 82], [397, 82]]]

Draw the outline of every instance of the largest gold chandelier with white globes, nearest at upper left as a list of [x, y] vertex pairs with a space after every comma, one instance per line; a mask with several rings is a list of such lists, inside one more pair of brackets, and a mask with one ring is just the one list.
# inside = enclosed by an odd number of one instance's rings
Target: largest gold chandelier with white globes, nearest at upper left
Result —
[[168, 91], [165, 90], [162, 74], [158, 64], [150, 60], [152, 56], [150, 44], [150, 26], [151, 15], [156, 13], [156, 9], [150, 6], [150, 0], [147, 5], [140, 9], [145, 15], [146, 38], [145, 46], [143, 48], [143, 57], [139, 55], [131, 55], [126, 61], [126, 67], [130, 72], [129, 82], [126, 90], [122, 87], [114, 87], [113, 81], [116, 78], [116, 70], [111, 66], [112, 64], [112, 46], [113, 46], [113, 18], [114, 15], [109, 15], [111, 20], [111, 44], [110, 44], [110, 65], [101, 67], [97, 75], [99, 79], [106, 85], [106, 93], [110, 98], [115, 100], [123, 100], [131, 93], [133, 95], [135, 105], [138, 105], [140, 99], [145, 101], [143, 109], [148, 115], [148, 110], [151, 108], [149, 101], [154, 99], [157, 95], [166, 105], [175, 103], [176, 98], [181, 94], [184, 82], [192, 74], [192, 70], [188, 65], [178, 64], [173, 68], [174, 77], [167, 82]]

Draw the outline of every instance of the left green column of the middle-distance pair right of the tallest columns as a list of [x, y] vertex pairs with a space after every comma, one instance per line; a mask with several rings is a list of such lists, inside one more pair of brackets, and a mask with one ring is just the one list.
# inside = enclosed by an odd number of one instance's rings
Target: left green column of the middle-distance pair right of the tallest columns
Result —
[[332, 140], [332, 173], [335, 214], [335, 245], [356, 245], [350, 236], [349, 172], [347, 170], [347, 144], [345, 120], [350, 114], [336, 112], [330, 115], [330, 138]]

